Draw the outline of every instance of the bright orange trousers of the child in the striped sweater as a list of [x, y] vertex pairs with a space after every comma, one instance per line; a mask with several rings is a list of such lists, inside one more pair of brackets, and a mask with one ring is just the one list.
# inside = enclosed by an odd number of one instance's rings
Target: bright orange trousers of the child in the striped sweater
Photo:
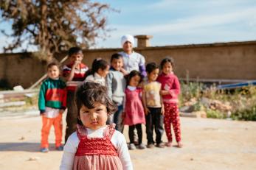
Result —
[[48, 136], [52, 125], [55, 129], [55, 146], [60, 146], [62, 139], [62, 114], [59, 114], [56, 118], [47, 118], [42, 116], [42, 121], [43, 127], [41, 130], [41, 148], [49, 147]]

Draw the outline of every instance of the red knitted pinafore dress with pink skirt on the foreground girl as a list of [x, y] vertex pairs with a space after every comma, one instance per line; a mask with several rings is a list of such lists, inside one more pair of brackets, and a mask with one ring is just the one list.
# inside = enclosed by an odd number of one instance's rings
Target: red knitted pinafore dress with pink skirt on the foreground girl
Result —
[[77, 126], [80, 140], [75, 154], [73, 169], [76, 170], [117, 170], [122, 163], [117, 149], [111, 143], [114, 125], [105, 128], [103, 138], [88, 138], [86, 127]]

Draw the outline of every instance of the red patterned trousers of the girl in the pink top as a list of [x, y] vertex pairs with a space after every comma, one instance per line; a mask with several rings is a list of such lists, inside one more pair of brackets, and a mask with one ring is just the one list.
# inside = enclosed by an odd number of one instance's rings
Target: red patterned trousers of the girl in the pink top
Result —
[[173, 130], [175, 133], [176, 141], [181, 141], [181, 124], [179, 120], [179, 107], [176, 103], [164, 103], [165, 105], [165, 133], [169, 142], [173, 141], [172, 132], [170, 130], [171, 124], [173, 124]]

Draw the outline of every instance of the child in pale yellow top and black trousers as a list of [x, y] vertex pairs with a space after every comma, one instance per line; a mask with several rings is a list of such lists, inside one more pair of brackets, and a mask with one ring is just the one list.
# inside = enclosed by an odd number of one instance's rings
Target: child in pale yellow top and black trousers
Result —
[[159, 66], [156, 63], [148, 63], [146, 65], [147, 79], [142, 85], [142, 102], [144, 105], [146, 115], [146, 132], [148, 139], [148, 148], [154, 147], [153, 129], [156, 132], [156, 146], [163, 148], [165, 144], [162, 143], [163, 128], [163, 114], [164, 105], [162, 103], [161, 83], [156, 82], [159, 74]]

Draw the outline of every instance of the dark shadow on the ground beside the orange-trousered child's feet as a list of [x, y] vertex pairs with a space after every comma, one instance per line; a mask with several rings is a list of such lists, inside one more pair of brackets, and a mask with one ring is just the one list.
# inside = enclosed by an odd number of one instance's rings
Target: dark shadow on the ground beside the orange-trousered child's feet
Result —
[[[55, 144], [49, 144], [50, 150], [55, 150]], [[0, 152], [25, 151], [40, 152], [40, 143], [0, 143]]]

